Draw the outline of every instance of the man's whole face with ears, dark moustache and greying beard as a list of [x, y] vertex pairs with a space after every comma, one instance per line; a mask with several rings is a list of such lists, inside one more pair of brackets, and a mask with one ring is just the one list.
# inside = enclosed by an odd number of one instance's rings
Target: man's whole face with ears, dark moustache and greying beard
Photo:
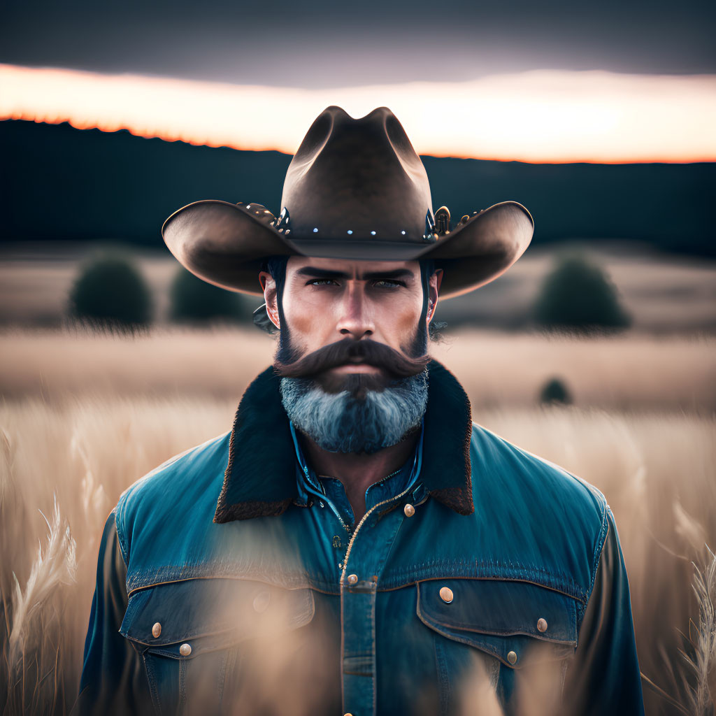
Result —
[[441, 276], [430, 278], [424, 311], [417, 261], [291, 256], [279, 311], [274, 279], [261, 272], [266, 311], [281, 329], [281, 400], [321, 448], [374, 453], [420, 426]]

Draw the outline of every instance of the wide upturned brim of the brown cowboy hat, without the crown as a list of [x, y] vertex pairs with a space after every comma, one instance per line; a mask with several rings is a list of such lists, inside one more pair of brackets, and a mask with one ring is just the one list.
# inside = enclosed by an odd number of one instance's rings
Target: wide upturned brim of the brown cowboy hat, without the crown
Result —
[[230, 291], [261, 296], [258, 271], [269, 256], [316, 256], [359, 261], [432, 258], [444, 270], [440, 298], [484, 286], [524, 253], [534, 229], [531, 214], [503, 201], [471, 216], [435, 243], [405, 241], [292, 241], [251, 205], [203, 200], [175, 211], [162, 236], [175, 258], [200, 279]]

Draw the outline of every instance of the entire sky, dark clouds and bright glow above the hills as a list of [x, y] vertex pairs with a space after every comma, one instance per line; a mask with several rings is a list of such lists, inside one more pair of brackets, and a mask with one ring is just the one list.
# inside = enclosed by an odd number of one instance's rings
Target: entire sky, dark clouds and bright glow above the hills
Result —
[[714, 37], [693, 0], [6, 0], [0, 117], [292, 153], [387, 105], [422, 153], [716, 160]]

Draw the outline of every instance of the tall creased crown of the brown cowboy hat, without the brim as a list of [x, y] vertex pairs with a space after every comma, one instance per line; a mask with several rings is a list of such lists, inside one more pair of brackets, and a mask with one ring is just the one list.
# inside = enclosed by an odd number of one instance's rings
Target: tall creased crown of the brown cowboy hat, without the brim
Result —
[[423, 243], [430, 184], [387, 107], [359, 119], [326, 107], [291, 160], [281, 208], [297, 246], [301, 238]]

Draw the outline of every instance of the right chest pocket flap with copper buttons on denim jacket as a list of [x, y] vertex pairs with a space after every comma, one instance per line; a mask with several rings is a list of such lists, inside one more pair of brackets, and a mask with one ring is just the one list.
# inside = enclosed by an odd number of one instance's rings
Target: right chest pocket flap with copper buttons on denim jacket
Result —
[[421, 581], [417, 616], [443, 636], [513, 668], [538, 658], [561, 659], [574, 653], [577, 643], [576, 601], [529, 582]]

